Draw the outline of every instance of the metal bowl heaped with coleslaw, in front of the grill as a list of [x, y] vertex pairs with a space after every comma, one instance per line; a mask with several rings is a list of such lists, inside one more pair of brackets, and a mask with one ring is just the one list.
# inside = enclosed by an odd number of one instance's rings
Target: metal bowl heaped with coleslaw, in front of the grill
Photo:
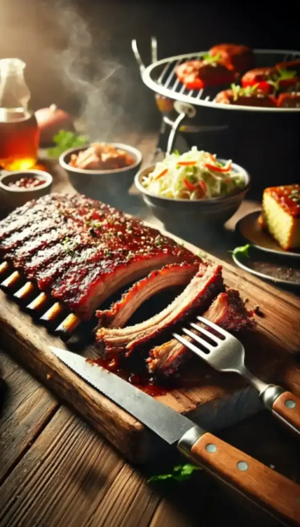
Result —
[[238, 209], [249, 184], [245, 169], [196, 147], [166, 154], [135, 176], [146, 205], [168, 228], [176, 223], [191, 227], [195, 221], [222, 225]]

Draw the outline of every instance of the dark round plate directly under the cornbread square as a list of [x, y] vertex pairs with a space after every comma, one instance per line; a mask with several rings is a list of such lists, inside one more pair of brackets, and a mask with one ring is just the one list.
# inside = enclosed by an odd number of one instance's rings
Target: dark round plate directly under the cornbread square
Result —
[[246, 214], [244, 218], [237, 222], [237, 232], [257, 249], [277, 255], [300, 258], [300, 251], [296, 251], [295, 249], [292, 251], [284, 251], [267, 232], [264, 232], [259, 227], [257, 221], [259, 214], [261, 214], [260, 210]]

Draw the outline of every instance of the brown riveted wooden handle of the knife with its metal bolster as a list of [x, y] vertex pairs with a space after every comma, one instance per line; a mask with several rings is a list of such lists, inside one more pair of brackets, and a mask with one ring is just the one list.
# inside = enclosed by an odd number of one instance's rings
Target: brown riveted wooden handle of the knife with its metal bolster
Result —
[[[195, 430], [200, 432], [197, 440], [185, 441]], [[198, 427], [192, 428], [179, 441], [178, 449], [279, 520], [300, 525], [299, 485], [213, 434], [201, 432]]]

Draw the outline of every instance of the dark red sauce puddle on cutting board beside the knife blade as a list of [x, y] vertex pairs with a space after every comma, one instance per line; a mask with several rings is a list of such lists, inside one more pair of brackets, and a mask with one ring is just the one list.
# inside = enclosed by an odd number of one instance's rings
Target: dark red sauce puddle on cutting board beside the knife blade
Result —
[[152, 397], [158, 397], [159, 395], [165, 395], [169, 389], [165, 386], [159, 386], [154, 382], [152, 377], [147, 376], [145, 373], [136, 374], [127, 372], [124, 368], [121, 368], [118, 364], [118, 361], [113, 359], [86, 359], [87, 362], [101, 366], [104, 369], [107, 369], [109, 372], [114, 373], [118, 377], [121, 377], [124, 380], [127, 380], [128, 383], [133, 384], [136, 388], [142, 390]]

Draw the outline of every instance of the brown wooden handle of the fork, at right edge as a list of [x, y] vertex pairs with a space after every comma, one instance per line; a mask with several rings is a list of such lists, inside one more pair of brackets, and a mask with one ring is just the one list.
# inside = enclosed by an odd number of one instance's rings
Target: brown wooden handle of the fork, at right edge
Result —
[[300, 398], [291, 392], [279, 395], [272, 406], [272, 413], [300, 436]]

